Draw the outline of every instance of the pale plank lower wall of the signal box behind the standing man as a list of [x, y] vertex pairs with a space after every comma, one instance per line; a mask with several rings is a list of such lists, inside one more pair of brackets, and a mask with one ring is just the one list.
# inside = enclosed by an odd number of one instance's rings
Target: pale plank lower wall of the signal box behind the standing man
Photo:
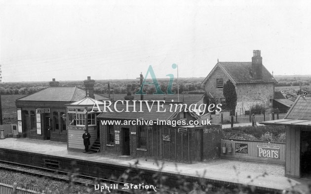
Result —
[[[97, 138], [97, 132], [95, 129], [89, 127], [89, 130], [88, 130], [88, 132], [91, 135], [91, 138], [90, 138], [91, 146]], [[83, 139], [82, 139], [83, 133], [84, 133], [84, 130], [68, 129], [68, 148], [84, 150]]]

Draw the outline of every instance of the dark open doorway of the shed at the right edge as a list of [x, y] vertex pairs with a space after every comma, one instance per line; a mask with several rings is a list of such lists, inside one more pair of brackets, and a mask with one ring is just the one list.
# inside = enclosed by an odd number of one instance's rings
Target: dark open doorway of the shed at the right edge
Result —
[[301, 131], [300, 166], [302, 177], [311, 177], [311, 131]]

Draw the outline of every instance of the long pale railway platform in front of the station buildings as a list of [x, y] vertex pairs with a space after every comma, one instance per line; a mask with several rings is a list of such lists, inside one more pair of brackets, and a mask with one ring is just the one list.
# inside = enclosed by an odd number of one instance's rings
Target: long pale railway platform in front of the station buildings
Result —
[[[157, 171], [160, 166], [154, 159], [133, 158], [125, 155], [103, 155], [101, 153], [86, 154], [79, 151], [68, 151], [66, 143], [51, 142], [48, 140], [33, 140], [27, 138], [6, 138], [0, 140], [0, 152], [21, 152], [23, 155], [48, 155], [58, 158], [73, 158], [90, 163], [105, 164], [107, 166], [129, 167], [138, 160], [139, 169]], [[23, 157], [21, 155], [20, 157]], [[23, 159], [21, 158], [21, 161]], [[162, 161], [158, 162], [162, 165]], [[284, 176], [284, 165], [237, 161], [229, 159], [215, 159], [199, 163], [176, 163], [164, 161], [162, 172], [174, 176], [201, 177], [214, 183], [247, 184], [267, 191], [306, 190], [308, 179], [294, 179]], [[267, 175], [262, 176], [264, 173]]]

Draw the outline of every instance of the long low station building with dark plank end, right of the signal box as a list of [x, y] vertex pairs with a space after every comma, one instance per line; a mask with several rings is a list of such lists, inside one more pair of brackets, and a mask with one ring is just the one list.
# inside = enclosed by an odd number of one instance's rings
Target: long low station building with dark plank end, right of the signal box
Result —
[[[142, 112], [108, 112], [97, 116], [100, 124], [101, 152], [103, 154], [130, 155], [167, 159], [172, 161], [193, 162], [206, 158], [216, 158], [220, 154], [221, 125], [184, 126], [174, 125], [174, 122], [197, 120], [194, 112], [158, 112], [157, 106], [143, 104]], [[119, 109], [126, 109], [118, 105]], [[151, 109], [149, 110], [148, 108]], [[169, 103], [163, 103], [162, 109], [169, 110]], [[161, 110], [162, 110], [161, 109]], [[153, 123], [143, 123], [150, 121]], [[160, 123], [157, 121], [166, 121]], [[115, 121], [115, 123], [108, 122]], [[127, 122], [125, 122], [127, 121]], [[134, 121], [131, 124], [129, 121]], [[105, 123], [106, 122], [106, 123]], [[119, 123], [117, 123], [119, 122]], [[172, 126], [173, 123], [173, 126]]]

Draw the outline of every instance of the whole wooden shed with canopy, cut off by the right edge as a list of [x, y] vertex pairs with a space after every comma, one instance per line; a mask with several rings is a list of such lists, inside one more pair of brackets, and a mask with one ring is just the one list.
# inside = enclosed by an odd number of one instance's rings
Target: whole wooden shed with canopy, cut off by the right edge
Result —
[[298, 96], [284, 119], [260, 122], [286, 126], [285, 176], [311, 177], [311, 97]]

